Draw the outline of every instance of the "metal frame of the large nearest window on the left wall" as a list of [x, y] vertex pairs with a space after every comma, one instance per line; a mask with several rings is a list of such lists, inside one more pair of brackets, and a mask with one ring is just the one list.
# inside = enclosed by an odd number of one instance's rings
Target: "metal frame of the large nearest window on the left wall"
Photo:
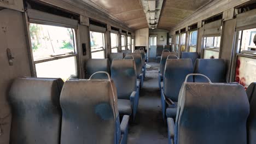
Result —
[[[55, 61], [58, 59], [63, 59], [63, 58], [69, 58], [69, 57], [75, 57], [75, 60], [77, 61], [77, 65], [75, 65], [77, 67], [76, 71], [77, 71], [77, 77], [78, 79], [81, 77], [81, 71], [80, 71], [80, 47], [78, 45], [78, 27], [74, 28], [74, 27], [68, 27], [68, 26], [64, 26], [64, 25], [51, 25], [51, 23], [46, 22], [46, 21], [40, 21], [40, 22], [34, 22], [34, 21], [29, 21], [28, 20], [28, 16], [27, 14], [25, 14], [25, 19], [26, 19], [26, 33], [27, 33], [27, 41], [28, 41], [28, 49], [30, 52], [30, 63], [31, 63], [31, 75], [33, 77], [37, 77], [37, 70], [36, 70], [36, 64], [38, 63], [44, 63], [44, 62], [50, 62], [50, 61]], [[57, 26], [57, 27], [65, 27], [65, 28], [71, 28], [73, 31], [73, 35], [74, 35], [74, 53], [63, 53], [61, 55], [52, 55], [50, 57], [45, 57], [45, 58], [40, 58], [37, 60], [34, 60], [33, 57], [33, 50], [32, 50], [32, 42], [31, 42], [31, 35], [30, 35], [30, 24], [34, 23], [34, 24], [38, 24], [38, 25], [46, 25], [46, 26]], [[57, 77], [59, 78], [59, 77]]]

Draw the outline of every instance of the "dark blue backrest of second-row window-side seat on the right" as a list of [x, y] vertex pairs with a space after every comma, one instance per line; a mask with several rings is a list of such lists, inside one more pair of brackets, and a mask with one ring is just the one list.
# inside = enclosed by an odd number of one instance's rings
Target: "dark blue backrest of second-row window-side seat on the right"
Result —
[[[224, 59], [197, 59], [194, 73], [206, 75], [212, 82], [225, 82], [225, 61]], [[201, 76], [194, 76], [194, 81], [207, 82]]]

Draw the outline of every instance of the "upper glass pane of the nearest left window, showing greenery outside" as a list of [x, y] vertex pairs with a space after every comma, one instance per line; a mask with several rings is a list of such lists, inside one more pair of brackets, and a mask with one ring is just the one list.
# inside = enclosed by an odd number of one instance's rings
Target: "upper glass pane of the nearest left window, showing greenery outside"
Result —
[[30, 38], [34, 61], [75, 53], [74, 29], [30, 23]]

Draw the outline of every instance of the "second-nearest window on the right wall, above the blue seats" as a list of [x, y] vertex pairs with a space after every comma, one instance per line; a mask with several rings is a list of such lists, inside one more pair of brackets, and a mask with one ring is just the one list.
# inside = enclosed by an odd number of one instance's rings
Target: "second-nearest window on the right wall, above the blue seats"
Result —
[[220, 37], [203, 38], [203, 58], [219, 58]]

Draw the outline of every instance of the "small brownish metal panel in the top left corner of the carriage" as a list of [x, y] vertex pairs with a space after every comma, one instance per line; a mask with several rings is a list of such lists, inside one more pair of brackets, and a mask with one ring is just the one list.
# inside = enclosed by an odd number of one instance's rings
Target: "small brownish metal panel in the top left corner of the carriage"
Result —
[[22, 0], [1, 0], [0, 7], [18, 10], [18, 11], [24, 11]]

